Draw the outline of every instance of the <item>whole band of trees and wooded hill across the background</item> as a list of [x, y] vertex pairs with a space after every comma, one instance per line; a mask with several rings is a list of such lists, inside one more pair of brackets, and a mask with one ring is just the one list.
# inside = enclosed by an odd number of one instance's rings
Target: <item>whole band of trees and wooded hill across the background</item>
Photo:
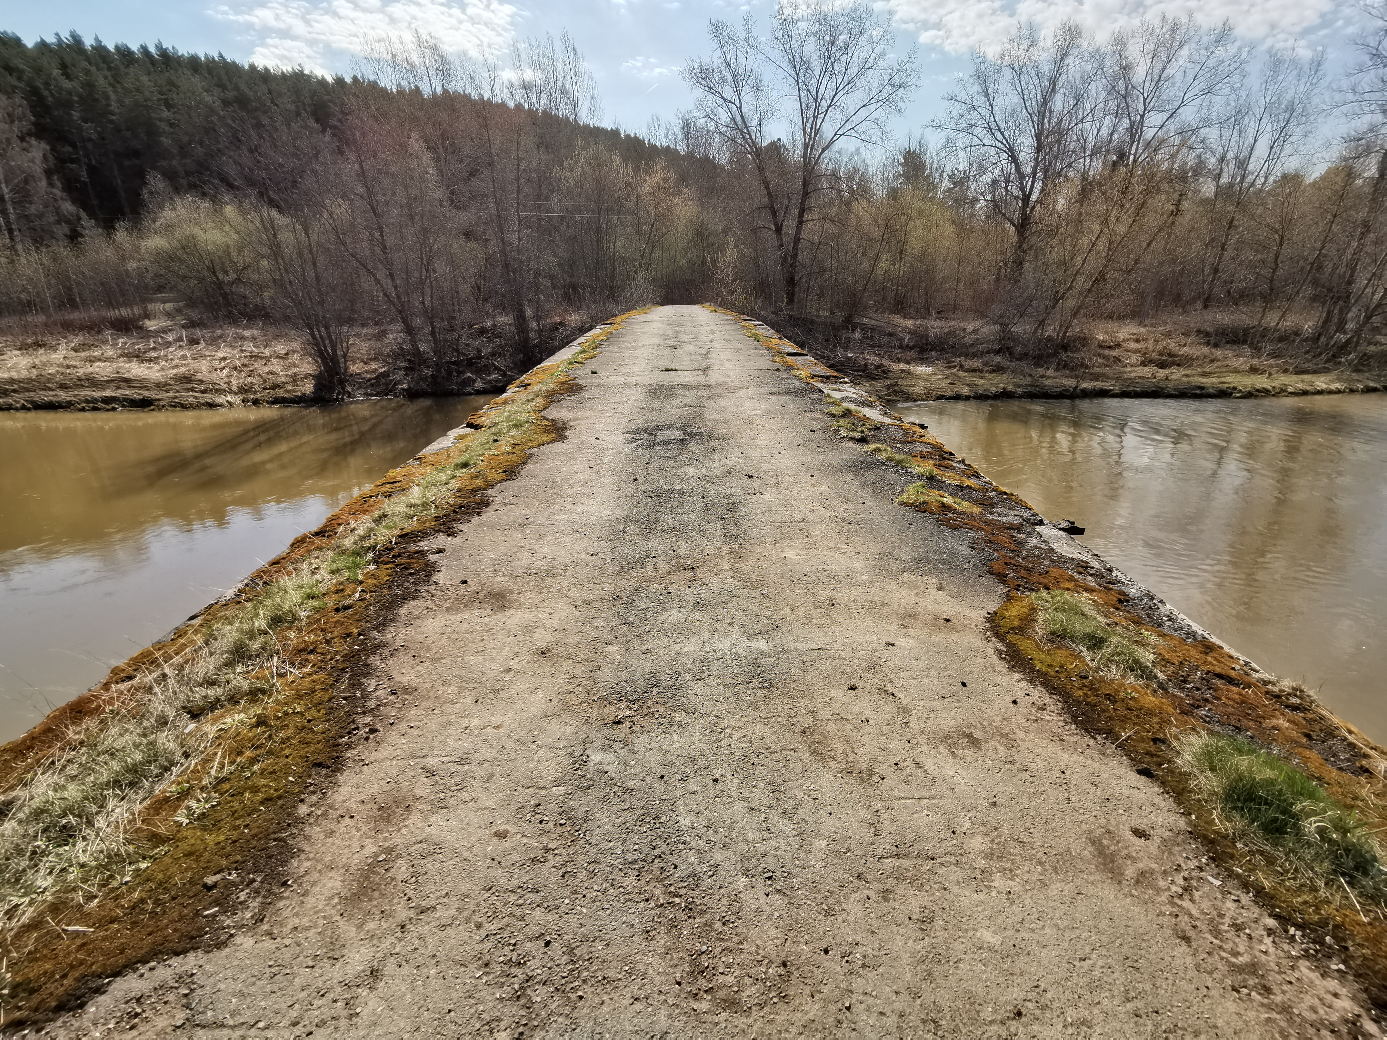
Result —
[[1383, 39], [1330, 141], [1313, 55], [1193, 21], [1024, 28], [974, 55], [931, 148], [889, 141], [917, 62], [865, 4], [713, 22], [695, 110], [641, 136], [594, 125], [567, 36], [491, 62], [384, 40], [351, 80], [0, 36], [0, 312], [286, 323], [327, 395], [362, 327], [427, 390], [481, 323], [519, 366], [556, 316], [700, 300], [1060, 352], [1094, 319], [1216, 312], [1351, 363], [1387, 302]]

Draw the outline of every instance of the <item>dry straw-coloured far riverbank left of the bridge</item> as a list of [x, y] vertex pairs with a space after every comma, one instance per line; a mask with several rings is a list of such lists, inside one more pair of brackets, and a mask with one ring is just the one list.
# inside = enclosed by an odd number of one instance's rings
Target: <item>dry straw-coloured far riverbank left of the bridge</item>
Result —
[[[559, 322], [566, 343], [591, 322]], [[472, 361], [431, 394], [462, 397], [502, 390], [516, 374], [503, 330], [479, 329]], [[551, 348], [552, 349], [552, 348]], [[419, 390], [398, 344], [376, 330], [354, 334], [352, 398], [411, 397]], [[284, 330], [261, 326], [190, 327], [176, 322], [133, 330], [0, 327], [0, 412], [237, 408], [320, 404], [313, 365]]]

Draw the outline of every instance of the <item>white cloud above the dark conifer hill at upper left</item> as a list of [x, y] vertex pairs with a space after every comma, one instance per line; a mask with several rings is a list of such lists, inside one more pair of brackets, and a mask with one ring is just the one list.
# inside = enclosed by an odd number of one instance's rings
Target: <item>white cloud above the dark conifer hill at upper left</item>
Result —
[[323, 71], [329, 51], [359, 54], [372, 39], [413, 32], [449, 51], [490, 54], [513, 39], [519, 10], [502, 0], [266, 0], [211, 14], [261, 37], [251, 61]]

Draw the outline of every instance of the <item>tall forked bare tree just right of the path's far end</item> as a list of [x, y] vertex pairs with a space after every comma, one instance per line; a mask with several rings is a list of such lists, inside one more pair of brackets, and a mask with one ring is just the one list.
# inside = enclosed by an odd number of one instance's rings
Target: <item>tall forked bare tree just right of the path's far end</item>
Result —
[[[829, 153], [845, 141], [881, 144], [918, 82], [914, 50], [893, 58], [890, 29], [865, 3], [782, 3], [770, 39], [748, 15], [709, 22], [713, 55], [685, 64], [699, 115], [750, 162], [775, 240], [785, 306], [799, 300], [800, 248], [831, 190]], [[773, 137], [781, 119], [785, 137]]]

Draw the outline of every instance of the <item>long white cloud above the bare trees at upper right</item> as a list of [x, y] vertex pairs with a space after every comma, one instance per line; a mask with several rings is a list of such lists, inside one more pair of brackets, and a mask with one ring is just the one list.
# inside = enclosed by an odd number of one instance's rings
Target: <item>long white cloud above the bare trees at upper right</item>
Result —
[[885, 0], [892, 19], [920, 42], [947, 51], [999, 47], [1018, 24], [1053, 29], [1072, 21], [1103, 37], [1142, 18], [1227, 21], [1246, 40], [1286, 44], [1334, 10], [1334, 0]]

